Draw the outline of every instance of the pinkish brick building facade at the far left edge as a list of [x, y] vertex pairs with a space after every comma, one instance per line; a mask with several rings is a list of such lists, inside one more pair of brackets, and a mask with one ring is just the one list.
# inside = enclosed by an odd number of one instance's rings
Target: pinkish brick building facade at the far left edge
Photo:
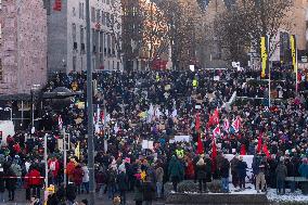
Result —
[[0, 1], [0, 94], [47, 81], [47, 13], [41, 0]]

